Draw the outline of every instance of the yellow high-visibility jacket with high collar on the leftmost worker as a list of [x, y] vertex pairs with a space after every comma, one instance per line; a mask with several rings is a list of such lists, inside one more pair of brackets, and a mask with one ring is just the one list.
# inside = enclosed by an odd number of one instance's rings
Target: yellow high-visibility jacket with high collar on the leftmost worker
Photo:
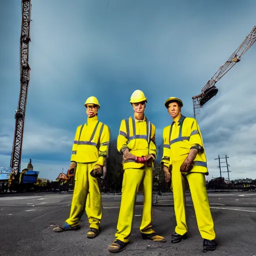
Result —
[[71, 161], [96, 162], [103, 166], [105, 158], [108, 157], [109, 141], [108, 126], [98, 121], [97, 116], [87, 118], [87, 123], [79, 125], [76, 129]]

